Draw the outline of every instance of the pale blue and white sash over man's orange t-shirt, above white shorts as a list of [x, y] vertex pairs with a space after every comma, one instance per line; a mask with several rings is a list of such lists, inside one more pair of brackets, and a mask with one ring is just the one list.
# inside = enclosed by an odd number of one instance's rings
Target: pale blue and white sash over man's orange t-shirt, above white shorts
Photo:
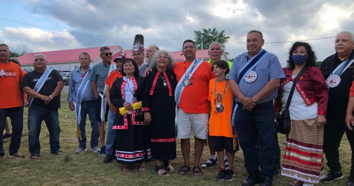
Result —
[[[195, 63], [195, 66], [193, 68], [193, 62]], [[185, 72], [185, 74], [189, 74], [190, 77], [192, 77], [193, 73], [197, 70], [197, 68], [199, 67], [200, 64], [202, 64], [202, 60], [200, 59], [195, 59], [193, 61], [187, 71]], [[186, 76], [182, 76], [181, 79], [178, 81], [177, 86], [176, 86], [176, 91], [175, 91], [175, 101], [176, 101], [176, 117], [175, 117], [175, 125], [177, 126], [177, 116], [178, 116], [178, 104], [180, 101], [180, 97], [182, 96], [182, 92], [184, 90], [184, 86], [183, 86], [183, 80], [186, 79]]]

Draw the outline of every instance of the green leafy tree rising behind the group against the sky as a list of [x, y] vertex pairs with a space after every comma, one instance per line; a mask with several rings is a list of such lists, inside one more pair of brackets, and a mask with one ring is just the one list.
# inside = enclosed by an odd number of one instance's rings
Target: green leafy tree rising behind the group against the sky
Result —
[[[202, 31], [193, 31], [194, 32], [194, 40], [197, 49], [202, 49], [202, 39], [203, 40], [203, 49], [208, 49], [209, 45], [217, 41], [221, 44], [221, 46], [225, 49], [225, 44], [230, 40], [230, 36], [225, 34], [225, 30], [221, 30], [218, 32], [216, 28], [202, 28]], [[229, 53], [226, 53], [229, 54]]]

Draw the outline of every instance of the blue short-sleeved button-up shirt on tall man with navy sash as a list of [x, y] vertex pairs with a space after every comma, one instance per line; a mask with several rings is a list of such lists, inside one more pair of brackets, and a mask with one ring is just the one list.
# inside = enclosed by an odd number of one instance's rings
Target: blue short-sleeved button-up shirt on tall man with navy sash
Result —
[[[247, 63], [248, 60], [250, 60], [248, 52], [237, 55], [234, 58], [233, 65], [227, 79], [237, 81], [240, 69]], [[251, 83], [243, 81], [238, 85], [242, 94], [246, 97], [252, 98], [255, 96], [259, 91], [262, 90], [264, 86], [266, 86], [269, 80], [285, 78], [285, 74], [283, 68], [280, 65], [278, 57], [273, 53], [268, 53], [266, 57], [253, 70], [257, 73], [257, 79]], [[257, 102], [257, 104], [271, 101], [275, 99], [276, 96], [277, 90], [271, 93], [268, 97]]]

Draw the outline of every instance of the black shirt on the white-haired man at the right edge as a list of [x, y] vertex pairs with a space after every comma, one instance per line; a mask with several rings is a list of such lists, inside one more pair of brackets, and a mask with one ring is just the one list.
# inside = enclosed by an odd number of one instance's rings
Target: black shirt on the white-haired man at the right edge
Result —
[[[354, 52], [349, 56], [349, 59], [353, 59]], [[342, 61], [338, 58], [338, 54], [335, 53], [322, 62], [321, 71], [324, 75], [324, 79], [327, 79], [329, 75], [334, 71], [335, 68], [341, 64]], [[328, 91], [328, 106], [327, 115], [331, 117], [336, 117], [340, 119], [345, 119], [346, 111], [349, 101], [350, 87], [353, 82], [353, 70], [354, 63], [352, 63], [347, 70], [343, 72], [340, 76], [341, 81], [338, 86], [329, 88]]]

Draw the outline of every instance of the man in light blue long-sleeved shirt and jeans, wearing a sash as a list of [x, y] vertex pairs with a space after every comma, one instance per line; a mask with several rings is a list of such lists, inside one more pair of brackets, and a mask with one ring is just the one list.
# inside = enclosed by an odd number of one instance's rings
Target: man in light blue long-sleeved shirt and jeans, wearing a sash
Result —
[[89, 83], [89, 74], [91, 69], [89, 64], [91, 58], [89, 53], [81, 53], [79, 55], [80, 67], [71, 72], [69, 95], [67, 101], [69, 102], [70, 110], [75, 110], [77, 119], [76, 137], [79, 140], [79, 148], [75, 151], [77, 154], [83, 153], [86, 148], [86, 116], [89, 114], [91, 122], [91, 151], [98, 152], [98, 125], [95, 121], [95, 97], [92, 93], [91, 84]]

